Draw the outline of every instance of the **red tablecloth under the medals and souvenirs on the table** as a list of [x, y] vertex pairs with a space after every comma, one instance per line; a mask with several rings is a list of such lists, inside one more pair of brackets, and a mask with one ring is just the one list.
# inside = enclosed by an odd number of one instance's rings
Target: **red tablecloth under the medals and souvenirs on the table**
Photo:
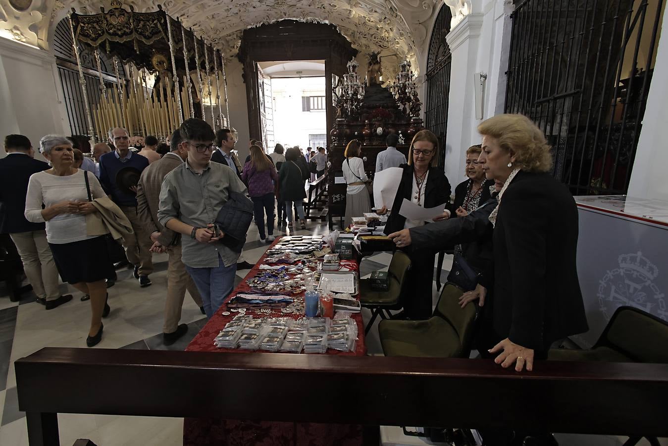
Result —
[[[280, 237], [279, 237], [280, 239]], [[276, 239], [272, 245], [277, 243]], [[256, 263], [255, 267], [246, 275], [243, 282], [230, 294], [231, 299], [239, 292], [250, 292], [251, 288], [246, 285], [246, 279], [254, 277], [260, 271], [266, 255]], [[248, 352], [248, 350], [216, 348], [213, 340], [220, 330], [232, 320], [232, 312], [224, 316], [222, 312], [228, 302], [212, 316], [206, 325], [200, 330], [195, 338], [188, 344], [186, 351], [189, 352]], [[260, 317], [286, 317], [301, 318], [301, 314], [283, 314], [274, 311], [271, 314], [256, 315], [248, 314], [255, 318]], [[361, 314], [353, 315], [357, 322], [357, 346], [355, 352], [339, 352], [338, 350], [327, 350], [326, 354], [343, 354], [363, 356], [367, 353], [364, 338], [364, 324]], [[259, 350], [262, 351], [262, 350]], [[290, 397], [291, 395], [286, 395]], [[322, 423], [277, 423], [273, 421], [243, 421], [224, 420], [218, 418], [195, 419], [186, 418], [183, 426], [184, 446], [202, 445], [361, 445], [362, 429], [360, 425], [329, 425]]]

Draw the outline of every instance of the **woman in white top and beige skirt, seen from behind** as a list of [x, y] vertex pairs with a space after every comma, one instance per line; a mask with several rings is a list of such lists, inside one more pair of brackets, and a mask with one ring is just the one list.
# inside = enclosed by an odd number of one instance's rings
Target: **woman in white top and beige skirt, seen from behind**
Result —
[[353, 223], [353, 217], [361, 217], [365, 212], [371, 212], [371, 200], [366, 185], [369, 178], [364, 171], [364, 161], [359, 157], [361, 147], [361, 142], [353, 139], [345, 148], [343, 179], [348, 185], [345, 195], [345, 227]]

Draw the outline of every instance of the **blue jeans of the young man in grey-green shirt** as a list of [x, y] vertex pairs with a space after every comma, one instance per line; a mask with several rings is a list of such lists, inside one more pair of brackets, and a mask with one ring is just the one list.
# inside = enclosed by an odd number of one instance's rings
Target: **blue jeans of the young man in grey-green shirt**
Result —
[[202, 295], [204, 312], [206, 318], [210, 319], [234, 288], [236, 262], [230, 266], [225, 266], [220, 259], [220, 255], [218, 255], [218, 267], [193, 268], [186, 265], [186, 269]]

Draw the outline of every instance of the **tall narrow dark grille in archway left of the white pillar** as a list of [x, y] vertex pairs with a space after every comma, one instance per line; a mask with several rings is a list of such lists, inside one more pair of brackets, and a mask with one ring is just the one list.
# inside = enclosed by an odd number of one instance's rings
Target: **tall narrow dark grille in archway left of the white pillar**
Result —
[[434, 23], [427, 58], [425, 126], [438, 136], [438, 145], [441, 149], [438, 165], [441, 169], [444, 169], [446, 165], [448, 96], [450, 95], [450, 66], [452, 63], [452, 53], [446, 42], [446, 35], [450, 32], [451, 19], [450, 8], [443, 5]]

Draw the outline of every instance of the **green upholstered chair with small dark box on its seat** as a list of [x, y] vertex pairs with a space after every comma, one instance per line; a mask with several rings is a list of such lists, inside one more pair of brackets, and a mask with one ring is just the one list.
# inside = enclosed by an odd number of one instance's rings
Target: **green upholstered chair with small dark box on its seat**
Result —
[[365, 308], [371, 310], [371, 320], [367, 324], [364, 332], [368, 333], [373, 326], [373, 322], [378, 316], [385, 319], [391, 318], [389, 310], [401, 310], [401, 300], [405, 292], [406, 275], [411, 267], [411, 259], [403, 251], [395, 251], [392, 260], [389, 262], [388, 280], [389, 288], [387, 291], [376, 291], [371, 289], [369, 279], [359, 280], [359, 303]]

